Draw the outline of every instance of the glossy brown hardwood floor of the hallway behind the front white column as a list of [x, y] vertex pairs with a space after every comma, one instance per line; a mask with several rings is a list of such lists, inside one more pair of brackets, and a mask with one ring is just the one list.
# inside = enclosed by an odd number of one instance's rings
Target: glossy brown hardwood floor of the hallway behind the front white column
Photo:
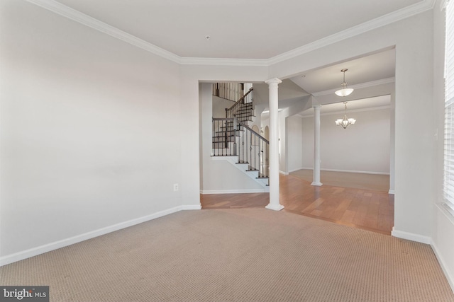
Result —
[[[292, 175], [280, 175], [279, 182], [284, 211], [391, 234], [394, 226], [392, 194], [351, 187], [315, 187]], [[202, 209], [265, 207], [269, 202], [268, 193], [201, 194]]]

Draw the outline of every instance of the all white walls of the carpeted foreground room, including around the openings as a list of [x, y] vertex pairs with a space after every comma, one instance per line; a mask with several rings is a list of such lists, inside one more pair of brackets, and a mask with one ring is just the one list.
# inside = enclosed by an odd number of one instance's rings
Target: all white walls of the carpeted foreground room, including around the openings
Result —
[[393, 235], [432, 236], [452, 281], [454, 229], [436, 204], [433, 141], [443, 129], [439, 2], [267, 67], [178, 65], [26, 1], [1, 1], [0, 255], [199, 207], [199, 81], [284, 79], [395, 45]]

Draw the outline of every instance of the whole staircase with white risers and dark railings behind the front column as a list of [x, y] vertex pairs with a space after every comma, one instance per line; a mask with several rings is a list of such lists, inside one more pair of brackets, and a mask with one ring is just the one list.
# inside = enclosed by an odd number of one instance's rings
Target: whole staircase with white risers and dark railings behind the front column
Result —
[[213, 118], [211, 156], [223, 157], [269, 192], [270, 143], [250, 129], [254, 117], [251, 88], [226, 108], [225, 118]]

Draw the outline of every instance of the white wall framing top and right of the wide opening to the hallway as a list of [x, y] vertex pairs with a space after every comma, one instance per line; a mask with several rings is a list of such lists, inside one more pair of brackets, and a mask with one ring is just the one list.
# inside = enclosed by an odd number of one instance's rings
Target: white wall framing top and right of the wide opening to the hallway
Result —
[[[304, 52], [270, 66], [270, 78], [286, 78], [396, 47], [394, 236], [428, 242], [433, 199], [433, 12]], [[417, 64], [416, 64], [417, 62]], [[414, 121], [426, 120], [425, 124]], [[323, 158], [322, 158], [323, 161]]]

